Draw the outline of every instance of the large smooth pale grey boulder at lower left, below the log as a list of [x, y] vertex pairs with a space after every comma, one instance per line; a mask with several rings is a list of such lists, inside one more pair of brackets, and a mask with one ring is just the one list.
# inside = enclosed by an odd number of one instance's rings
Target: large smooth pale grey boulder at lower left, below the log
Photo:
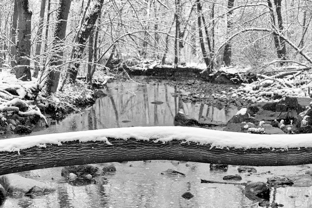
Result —
[[[1, 176], [0, 184], [9, 194], [13, 195], [21, 195], [26, 193], [37, 195], [41, 193], [56, 191], [55, 187], [52, 187], [46, 183], [35, 181], [29, 178], [24, 178], [16, 174], [7, 174]], [[36, 191], [38, 191], [38, 193]]]

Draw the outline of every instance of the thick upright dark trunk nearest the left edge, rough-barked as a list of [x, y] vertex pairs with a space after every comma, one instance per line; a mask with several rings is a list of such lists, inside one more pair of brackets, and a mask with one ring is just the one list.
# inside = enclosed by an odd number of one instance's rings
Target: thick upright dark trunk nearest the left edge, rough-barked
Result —
[[17, 50], [17, 70], [15, 76], [23, 81], [32, 80], [30, 73], [30, 47], [32, 32], [32, 12], [28, 0], [17, 0], [19, 35]]

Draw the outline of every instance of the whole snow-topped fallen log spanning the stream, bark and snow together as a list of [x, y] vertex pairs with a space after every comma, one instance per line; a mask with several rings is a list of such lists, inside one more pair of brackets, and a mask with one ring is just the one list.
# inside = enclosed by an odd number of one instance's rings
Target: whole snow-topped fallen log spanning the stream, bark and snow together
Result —
[[49, 167], [140, 160], [228, 165], [312, 163], [310, 134], [260, 135], [193, 127], [130, 127], [0, 140], [0, 175]]

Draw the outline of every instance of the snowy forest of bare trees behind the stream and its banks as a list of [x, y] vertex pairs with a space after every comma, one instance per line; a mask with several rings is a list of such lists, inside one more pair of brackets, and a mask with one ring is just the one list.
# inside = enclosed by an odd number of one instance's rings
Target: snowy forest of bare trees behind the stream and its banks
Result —
[[45, 95], [142, 61], [294, 74], [311, 69], [311, 9], [309, 0], [1, 0], [0, 70], [37, 79]]

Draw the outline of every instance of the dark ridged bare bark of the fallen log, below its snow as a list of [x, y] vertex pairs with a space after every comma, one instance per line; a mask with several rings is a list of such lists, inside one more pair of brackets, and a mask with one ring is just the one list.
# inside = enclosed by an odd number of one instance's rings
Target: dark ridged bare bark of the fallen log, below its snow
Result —
[[[25, 138], [27, 139], [27, 138]], [[0, 152], [0, 175], [68, 165], [141, 160], [183, 160], [249, 166], [287, 166], [312, 163], [312, 148], [271, 149], [212, 148], [210, 145], [170, 141], [165, 144], [135, 139], [108, 138], [104, 142], [73, 141], [61, 146], [47, 144], [17, 152]]]

